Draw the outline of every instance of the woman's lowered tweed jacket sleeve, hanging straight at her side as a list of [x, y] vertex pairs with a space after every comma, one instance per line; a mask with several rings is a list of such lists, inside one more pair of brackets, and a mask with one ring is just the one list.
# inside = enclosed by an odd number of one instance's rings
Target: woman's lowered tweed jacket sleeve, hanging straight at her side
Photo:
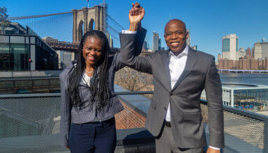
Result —
[[66, 76], [60, 76], [61, 81], [61, 122], [60, 135], [61, 146], [68, 145], [68, 134], [70, 129], [70, 95], [67, 90]]

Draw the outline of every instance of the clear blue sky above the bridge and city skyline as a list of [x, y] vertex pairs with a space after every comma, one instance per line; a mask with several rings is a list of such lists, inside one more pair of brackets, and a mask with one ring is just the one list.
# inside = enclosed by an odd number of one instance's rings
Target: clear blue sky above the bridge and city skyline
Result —
[[[102, 3], [89, 0], [89, 6]], [[128, 29], [128, 10], [135, 1], [107, 0], [108, 14]], [[192, 45], [198, 50], [217, 57], [221, 53], [223, 35], [236, 33], [239, 48], [253, 47], [261, 38], [268, 40], [267, 0], [169, 0], [138, 1], [145, 8], [142, 26], [147, 29], [147, 41], [151, 47], [152, 32], [161, 36], [161, 46], [166, 47], [163, 32], [166, 22], [178, 18], [191, 31]], [[1, 0], [0, 6], [8, 8], [9, 17], [63, 13], [87, 7], [86, 0]], [[118, 43], [117, 43], [118, 45]]]

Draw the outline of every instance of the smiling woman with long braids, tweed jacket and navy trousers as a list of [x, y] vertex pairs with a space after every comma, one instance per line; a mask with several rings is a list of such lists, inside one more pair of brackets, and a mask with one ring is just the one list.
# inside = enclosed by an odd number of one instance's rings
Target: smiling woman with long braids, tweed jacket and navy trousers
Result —
[[[140, 54], [145, 32], [133, 39]], [[134, 37], [134, 38], [135, 38]], [[114, 114], [124, 107], [114, 93], [114, 73], [124, 67], [120, 54], [109, 56], [110, 47], [101, 31], [82, 37], [77, 62], [61, 72], [61, 142], [71, 152], [114, 152]]]

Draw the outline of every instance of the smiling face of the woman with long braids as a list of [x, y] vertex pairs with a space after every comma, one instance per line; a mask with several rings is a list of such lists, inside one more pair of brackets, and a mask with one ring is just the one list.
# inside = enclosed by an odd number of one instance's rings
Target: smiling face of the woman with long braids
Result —
[[103, 42], [100, 38], [89, 36], [84, 40], [83, 57], [87, 67], [94, 67], [103, 56]]

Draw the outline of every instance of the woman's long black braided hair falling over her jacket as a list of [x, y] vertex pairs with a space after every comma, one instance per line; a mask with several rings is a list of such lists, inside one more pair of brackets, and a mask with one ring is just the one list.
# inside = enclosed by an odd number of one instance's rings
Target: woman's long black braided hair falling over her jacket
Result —
[[74, 106], [79, 106], [81, 109], [84, 104], [81, 101], [80, 97], [80, 88], [78, 85], [82, 79], [84, 74], [84, 70], [86, 68], [86, 62], [83, 57], [83, 47], [84, 42], [89, 37], [95, 37], [101, 40], [103, 43], [102, 47], [102, 57], [101, 60], [96, 63], [94, 67], [94, 74], [90, 81], [90, 101], [89, 106], [93, 106], [94, 102], [96, 103], [96, 108], [98, 110], [103, 110], [106, 104], [109, 103], [109, 88], [108, 88], [108, 56], [110, 53], [110, 46], [107, 40], [106, 35], [102, 31], [87, 31], [82, 36], [82, 40], [80, 42], [78, 48], [78, 56], [77, 56], [77, 63], [73, 66], [72, 70], [70, 70], [70, 74], [68, 75], [68, 92], [70, 93], [71, 102]]

